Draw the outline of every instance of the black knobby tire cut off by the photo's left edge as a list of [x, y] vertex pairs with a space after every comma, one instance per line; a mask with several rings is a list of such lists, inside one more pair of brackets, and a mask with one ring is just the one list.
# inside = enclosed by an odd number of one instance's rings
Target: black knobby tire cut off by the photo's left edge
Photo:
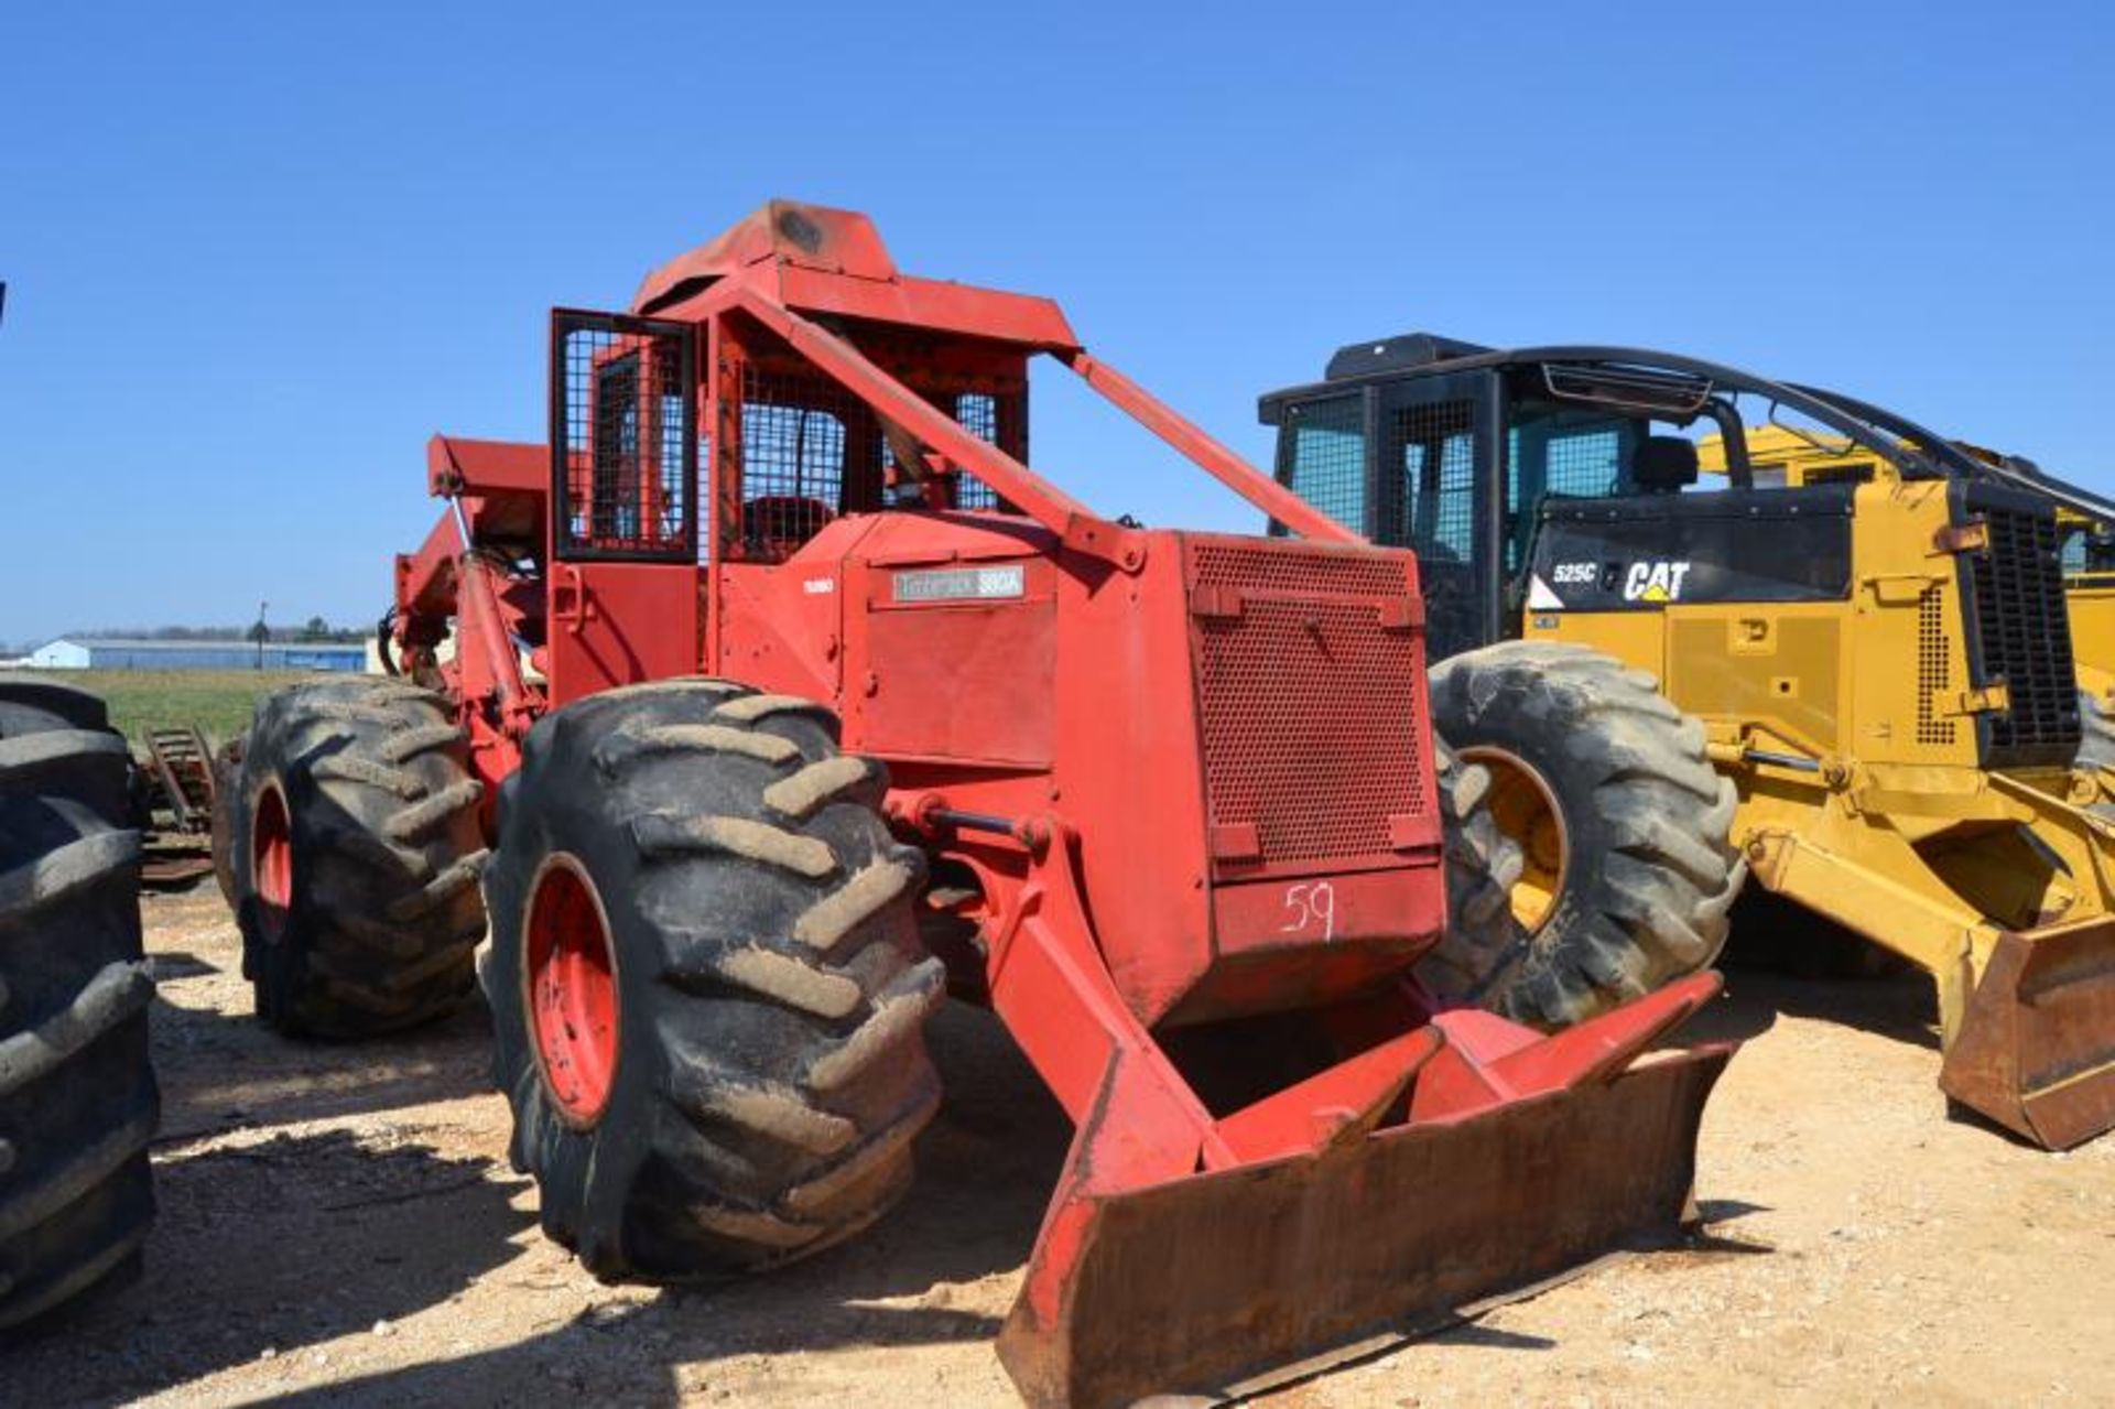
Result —
[[129, 768], [93, 696], [0, 681], [0, 1331], [137, 1267], [154, 1221]]

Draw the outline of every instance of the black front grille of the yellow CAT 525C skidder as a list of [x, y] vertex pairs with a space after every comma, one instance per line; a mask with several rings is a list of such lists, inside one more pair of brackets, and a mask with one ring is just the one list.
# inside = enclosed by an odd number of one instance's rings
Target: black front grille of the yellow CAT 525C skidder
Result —
[[[1978, 506], [1988, 552], [1969, 554], [1984, 683], [2003, 679], [2011, 707], [1990, 715], [1994, 749], [2075, 749], [2079, 681], [2056, 516]], [[2001, 762], [2001, 760], [1986, 760]]]

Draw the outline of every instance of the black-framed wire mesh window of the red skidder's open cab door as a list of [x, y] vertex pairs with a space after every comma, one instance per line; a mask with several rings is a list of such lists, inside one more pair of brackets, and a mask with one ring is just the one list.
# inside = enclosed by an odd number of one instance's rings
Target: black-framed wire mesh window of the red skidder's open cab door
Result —
[[696, 561], [694, 347], [689, 324], [552, 313], [550, 457], [560, 559]]

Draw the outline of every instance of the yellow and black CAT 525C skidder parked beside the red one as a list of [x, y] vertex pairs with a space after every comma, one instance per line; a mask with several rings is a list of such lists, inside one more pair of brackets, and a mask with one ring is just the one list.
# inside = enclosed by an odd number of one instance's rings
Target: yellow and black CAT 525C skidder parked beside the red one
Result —
[[[1561, 1026], [1696, 969], [1745, 863], [1933, 975], [1948, 1096], [2056, 1149], [2115, 1123], [2115, 827], [2068, 800], [2045, 484], [1620, 347], [1360, 343], [1261, 415], [1282, 482], [1417, 550], [1434, 728], [1523, 842], [1519, 935], [1455, 954], [1464, 994]], [[1768, 474], [1770, 427], [1868, 468]]]

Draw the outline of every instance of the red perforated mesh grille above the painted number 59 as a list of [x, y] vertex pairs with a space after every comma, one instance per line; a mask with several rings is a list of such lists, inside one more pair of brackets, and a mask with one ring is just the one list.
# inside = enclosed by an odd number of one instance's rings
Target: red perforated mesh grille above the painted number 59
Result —
[[1265, 863], [1390, 853], [1421, 817], [1419, 637], [1383, 630], [1409, 597], [1400, 561], [1299, 544], [1191, 544], [1199, 588], [1242, 594], [1197, 618], [1199, 717], [1214, 825], [1252, 823]]

